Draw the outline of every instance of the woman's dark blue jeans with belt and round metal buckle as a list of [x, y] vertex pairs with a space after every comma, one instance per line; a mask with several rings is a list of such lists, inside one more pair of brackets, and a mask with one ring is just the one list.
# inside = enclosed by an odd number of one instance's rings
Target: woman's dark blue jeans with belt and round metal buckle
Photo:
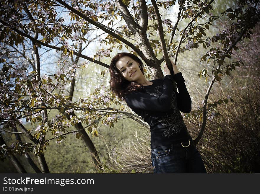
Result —
[[183, 146], [178, 143], [152, 149], [153, 172], [207, 173], [196, 145], [186, 141], [183, 142]]

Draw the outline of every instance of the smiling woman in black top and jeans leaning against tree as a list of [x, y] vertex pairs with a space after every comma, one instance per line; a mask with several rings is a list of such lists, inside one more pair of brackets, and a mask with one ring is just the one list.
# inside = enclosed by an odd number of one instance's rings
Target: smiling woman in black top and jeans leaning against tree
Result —
[[[163, 79], [147, 81], [143, 63], [131, 53], [118, 53], [110, 64], [110, 86], [120, 99], [150, 125], [154, 173], [206, 173], [204, 163], [183, 122], [191, 111], [184, 78], [173, 64]], [[173, 80], [178, 91], [173, 90]]]

